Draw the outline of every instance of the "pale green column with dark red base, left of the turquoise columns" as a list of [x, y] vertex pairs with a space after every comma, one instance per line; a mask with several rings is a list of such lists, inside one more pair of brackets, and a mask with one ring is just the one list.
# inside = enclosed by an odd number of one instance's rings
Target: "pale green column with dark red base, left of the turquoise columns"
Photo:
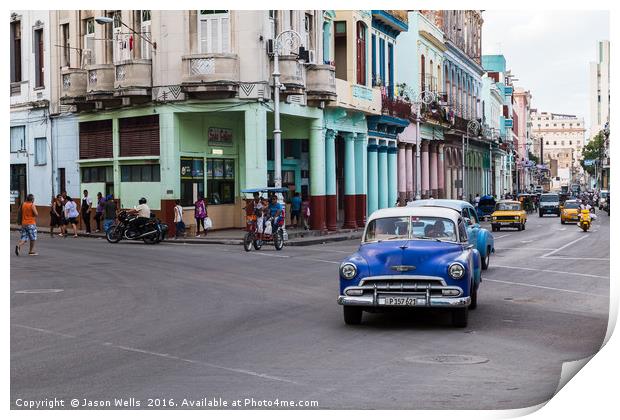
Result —
[[310, 124], [310, 226], [325, 230], [325, 144], [323, 119]]

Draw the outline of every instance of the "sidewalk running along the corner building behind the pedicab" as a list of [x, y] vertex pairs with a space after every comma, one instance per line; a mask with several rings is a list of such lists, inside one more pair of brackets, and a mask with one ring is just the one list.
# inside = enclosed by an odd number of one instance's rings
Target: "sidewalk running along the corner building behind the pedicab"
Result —
[[[19, 230], [15, 224], [11, 224], [11, 230]], [[50, 228], [47, 226], [38, 226], [39, 235], [49, 235]], [[329, 242], [348, 241], [351, 239], [360, 239], [364, 229], [340, 229], [337, 231], [319, 231], [319, 230], [303, 230], [303, 229], [287, 229], [288, 240], [284, 245], [288, 246], [308, 246]], [[56, 233], [54, 233], [56, 235]], [[220, 245], [243, 245], [243, 229], [222, 229], [209, 232], [209, 234], [200, 238], [166, 238], [165, 242], [181, 243], [181, 244], [220, 244]], [[71, 237], [69, 233], [69, 237]], [[87, 238], [105, 238], [103, 233], [93, 233], [86, 235], [83, 231], [78, 231], [78, 236]]]

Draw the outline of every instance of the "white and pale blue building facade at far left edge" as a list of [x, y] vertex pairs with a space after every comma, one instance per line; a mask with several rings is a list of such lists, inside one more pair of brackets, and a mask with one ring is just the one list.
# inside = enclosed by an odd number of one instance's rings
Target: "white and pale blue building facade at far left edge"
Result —
[[[27, 194], [47, 222], [55, 174], [50, 120], [48, 11], [18, 10], [10, 17], [10, 190], [13, 215]], [[47, 210], [46, 210], [47, 209]]]

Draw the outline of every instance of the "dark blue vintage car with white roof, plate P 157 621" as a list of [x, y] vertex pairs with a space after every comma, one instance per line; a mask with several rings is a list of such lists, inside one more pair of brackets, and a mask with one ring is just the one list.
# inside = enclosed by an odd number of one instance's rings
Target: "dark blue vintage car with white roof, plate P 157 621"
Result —
[[465, 218], [440, 207], [396, 207], [368, 219], [358, 251], [340, 265], [346, 324], [388, 308], [443, 308], [467, 326], [478, 301], [480, 253], [468, 242]]

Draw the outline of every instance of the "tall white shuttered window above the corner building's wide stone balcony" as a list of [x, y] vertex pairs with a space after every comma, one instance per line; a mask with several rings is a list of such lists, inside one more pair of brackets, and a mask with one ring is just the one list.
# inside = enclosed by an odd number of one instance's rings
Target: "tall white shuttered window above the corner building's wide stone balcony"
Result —
[[228, 10], [201, 10], [198, 14], [198, 40], [201, 53], [230, 52]]

